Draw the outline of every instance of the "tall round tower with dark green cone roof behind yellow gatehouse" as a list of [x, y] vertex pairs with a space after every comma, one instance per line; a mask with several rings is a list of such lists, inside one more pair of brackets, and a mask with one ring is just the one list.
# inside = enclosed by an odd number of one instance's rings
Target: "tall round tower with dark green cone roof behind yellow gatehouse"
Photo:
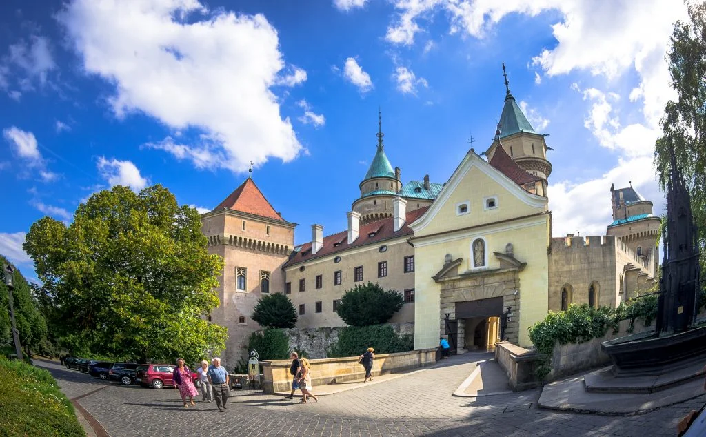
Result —
[[[503, 149], [522, 169], [542, 179], [537, 194], [546, 196], [547, 178], [551, 174], [551, 162], [546, 159], [546, 151], [551, 148], [546, 145], [545, 135], [534, 131], [532, 124], [522, 113], [522, 109], [517, 106], [515, 97], [510, 93], [505, 64], [503, 64], [503, 76], [505, 77], [505, 105], [498, 124]], [[493, 144], [486, 151], [488, 160], [493, 158], [499, 144], [499, 140], [493, 140]]]

